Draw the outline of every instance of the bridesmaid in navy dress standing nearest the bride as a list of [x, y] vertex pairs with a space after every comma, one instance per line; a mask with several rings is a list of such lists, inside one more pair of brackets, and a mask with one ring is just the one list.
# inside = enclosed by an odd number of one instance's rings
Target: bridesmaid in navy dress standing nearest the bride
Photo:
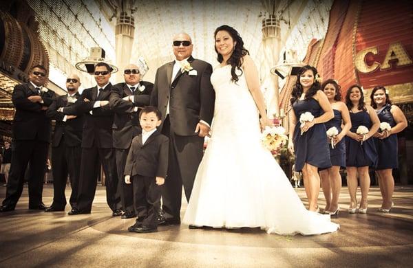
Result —
[[[301, 67], [297, 82], [293, 88], [290, 112], [290, 133], [288, 149], [295, 154], [295, 171], [303, 173], [304, 187], [308, 198], [308, 210], [318, 212], [317, 199], [320, 191], [318, 168], [330, 168], [330, 150], [328, 148], [326, 126], [324, 122], [334, 114], [326, 94], [320, 90], [316, 80], [317, 69], [306, 65]], [[302, 113], [310, 112], [314, 120], [301, 126]]]

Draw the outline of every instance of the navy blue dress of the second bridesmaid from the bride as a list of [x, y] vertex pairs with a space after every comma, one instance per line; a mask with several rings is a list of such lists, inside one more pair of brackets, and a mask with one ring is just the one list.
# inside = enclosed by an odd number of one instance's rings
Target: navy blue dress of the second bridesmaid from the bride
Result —
[[[339, 110], [332, 110], [334, 111], [334, 118], [332, 120], [324, 123], [326, 125], [326, 129], [330, 129], [331, 127], [335, 126], [339, 133], [341, 132], [341, 111]], [[341, 141], [334, 146], [331, 147], [330, 138], [328, 138], [329, 147], [330, 147], [330, 159], [332, 166], [346, 166], [346, 139], [341, 139]]]

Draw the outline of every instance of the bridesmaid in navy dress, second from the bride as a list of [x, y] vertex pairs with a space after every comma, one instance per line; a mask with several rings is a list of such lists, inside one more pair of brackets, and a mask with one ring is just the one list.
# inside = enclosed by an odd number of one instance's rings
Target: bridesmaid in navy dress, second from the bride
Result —
[[[324, 214], [339, 215], [339, 194], [341, 190], [340, 167], [346, 166], [346, 143], [343, 137], [351, 128], [350, 114], [344, 102], [341, 102], [341, 90], [336, 80], [328, 79], [321, 89], [326, 94], [328, 101], [334, 112], [334, 118], [325, 123], [326, 129], [335, 126], [339, 134], [333, 139], [334, 148], [331, 146], [330, 138], [328, 141], [330, 147], [331, 168], [321, 170], [321, 187], [323, 188], [324, 197], [326, 198], [326, 209]], [[341, 129], [341, 126], [343, 128]]]

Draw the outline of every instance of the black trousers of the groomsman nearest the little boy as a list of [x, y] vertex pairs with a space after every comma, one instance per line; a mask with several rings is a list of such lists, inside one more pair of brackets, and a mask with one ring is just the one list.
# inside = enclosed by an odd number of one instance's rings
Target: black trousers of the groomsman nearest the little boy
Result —
[[134, 212], [134, 189], [130, 184], [125, 183], [125, 165], [128, 149], [116, 148], [116, 168], [118, 169], [118, 192], [122, 200], [122, 210], [125, 212]]

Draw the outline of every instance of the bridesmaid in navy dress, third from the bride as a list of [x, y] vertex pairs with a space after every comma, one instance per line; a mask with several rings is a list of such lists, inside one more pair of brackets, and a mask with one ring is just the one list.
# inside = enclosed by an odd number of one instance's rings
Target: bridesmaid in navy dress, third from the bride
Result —
[[[377, 164], [377, 151], [372, 135], [380, 126], [376, 111], [364, 103], [363, 89], [352, 85], [346, 93], [346, 105], [350, 111], [351, 129], [346, 136], [347, 186], [350, 194], [349, 213], [357, 212], [357, 174], [359, 175], [361, 201], [359, 213], [367, 213], [368, 190], [370, 188], [369, 166]], [[366, 126], [366, 135], [357, 134], [359, 126]]]

